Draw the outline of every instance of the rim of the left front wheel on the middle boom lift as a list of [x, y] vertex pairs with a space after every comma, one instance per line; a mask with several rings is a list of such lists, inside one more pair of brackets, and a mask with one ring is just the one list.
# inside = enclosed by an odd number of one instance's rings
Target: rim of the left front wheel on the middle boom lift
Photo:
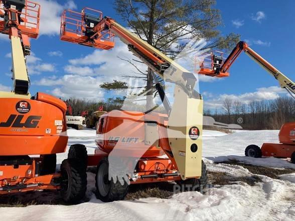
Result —
[[108, 165], [106, 163], [102, 163], [99, 166], [96, 182], [99, 193], [102, 196], [106, 196], [110, 188], [110, 181], [108, 180]]

